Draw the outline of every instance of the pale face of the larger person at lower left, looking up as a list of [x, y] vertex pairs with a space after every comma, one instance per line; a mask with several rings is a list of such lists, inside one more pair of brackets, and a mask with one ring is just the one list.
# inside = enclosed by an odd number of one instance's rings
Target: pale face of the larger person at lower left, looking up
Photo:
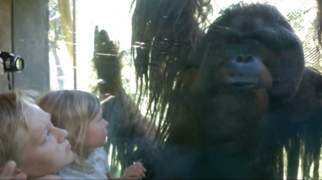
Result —
[[37, 105], [25, 110], [28, 123], [26, 141], [22, 147], [20, 169], [28, 177], [39, 177], [59, 172], [74, 160], [67, 131], [52, 125], [50, 114]]

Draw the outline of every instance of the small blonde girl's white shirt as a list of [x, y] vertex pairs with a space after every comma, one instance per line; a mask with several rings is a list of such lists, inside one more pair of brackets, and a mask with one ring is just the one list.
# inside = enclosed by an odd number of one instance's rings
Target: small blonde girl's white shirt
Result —
[[93, 149], [88, 158], [82, 162], [83, 166], [79, 156], [74, 153], [74, 162], [63, 168], [59, 175], [62, 179], [108, 179], [108, 156], [103, 147]]

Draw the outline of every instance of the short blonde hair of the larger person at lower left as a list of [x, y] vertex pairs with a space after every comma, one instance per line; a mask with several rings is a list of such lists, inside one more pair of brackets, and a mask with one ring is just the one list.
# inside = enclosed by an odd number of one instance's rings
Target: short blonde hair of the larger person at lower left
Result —
[[0, 167], [9, 160], [21, 164], [21, 150], [28, 130], [25, 109], [35, 104], [33, 91], [0, 94]]

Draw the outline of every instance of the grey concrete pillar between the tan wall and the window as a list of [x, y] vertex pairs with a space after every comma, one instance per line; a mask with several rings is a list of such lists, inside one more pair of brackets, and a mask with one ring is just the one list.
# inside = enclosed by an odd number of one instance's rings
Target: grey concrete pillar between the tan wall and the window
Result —
[[48, 0], [14, 0], [13, 52], [25, 60], [24, 71], [14, 73], [15, 89], [50, 89], [48, 18]]

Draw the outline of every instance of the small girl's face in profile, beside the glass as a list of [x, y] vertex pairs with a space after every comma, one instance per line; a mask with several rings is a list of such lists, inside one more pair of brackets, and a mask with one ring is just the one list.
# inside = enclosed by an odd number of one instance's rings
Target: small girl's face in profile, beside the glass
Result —
[[102, 117], [102, 109], [96, 117], [90, 121], [86, 131], [84, 147], [95, 148], [102, 147], [107, 135], [109, 123]]

